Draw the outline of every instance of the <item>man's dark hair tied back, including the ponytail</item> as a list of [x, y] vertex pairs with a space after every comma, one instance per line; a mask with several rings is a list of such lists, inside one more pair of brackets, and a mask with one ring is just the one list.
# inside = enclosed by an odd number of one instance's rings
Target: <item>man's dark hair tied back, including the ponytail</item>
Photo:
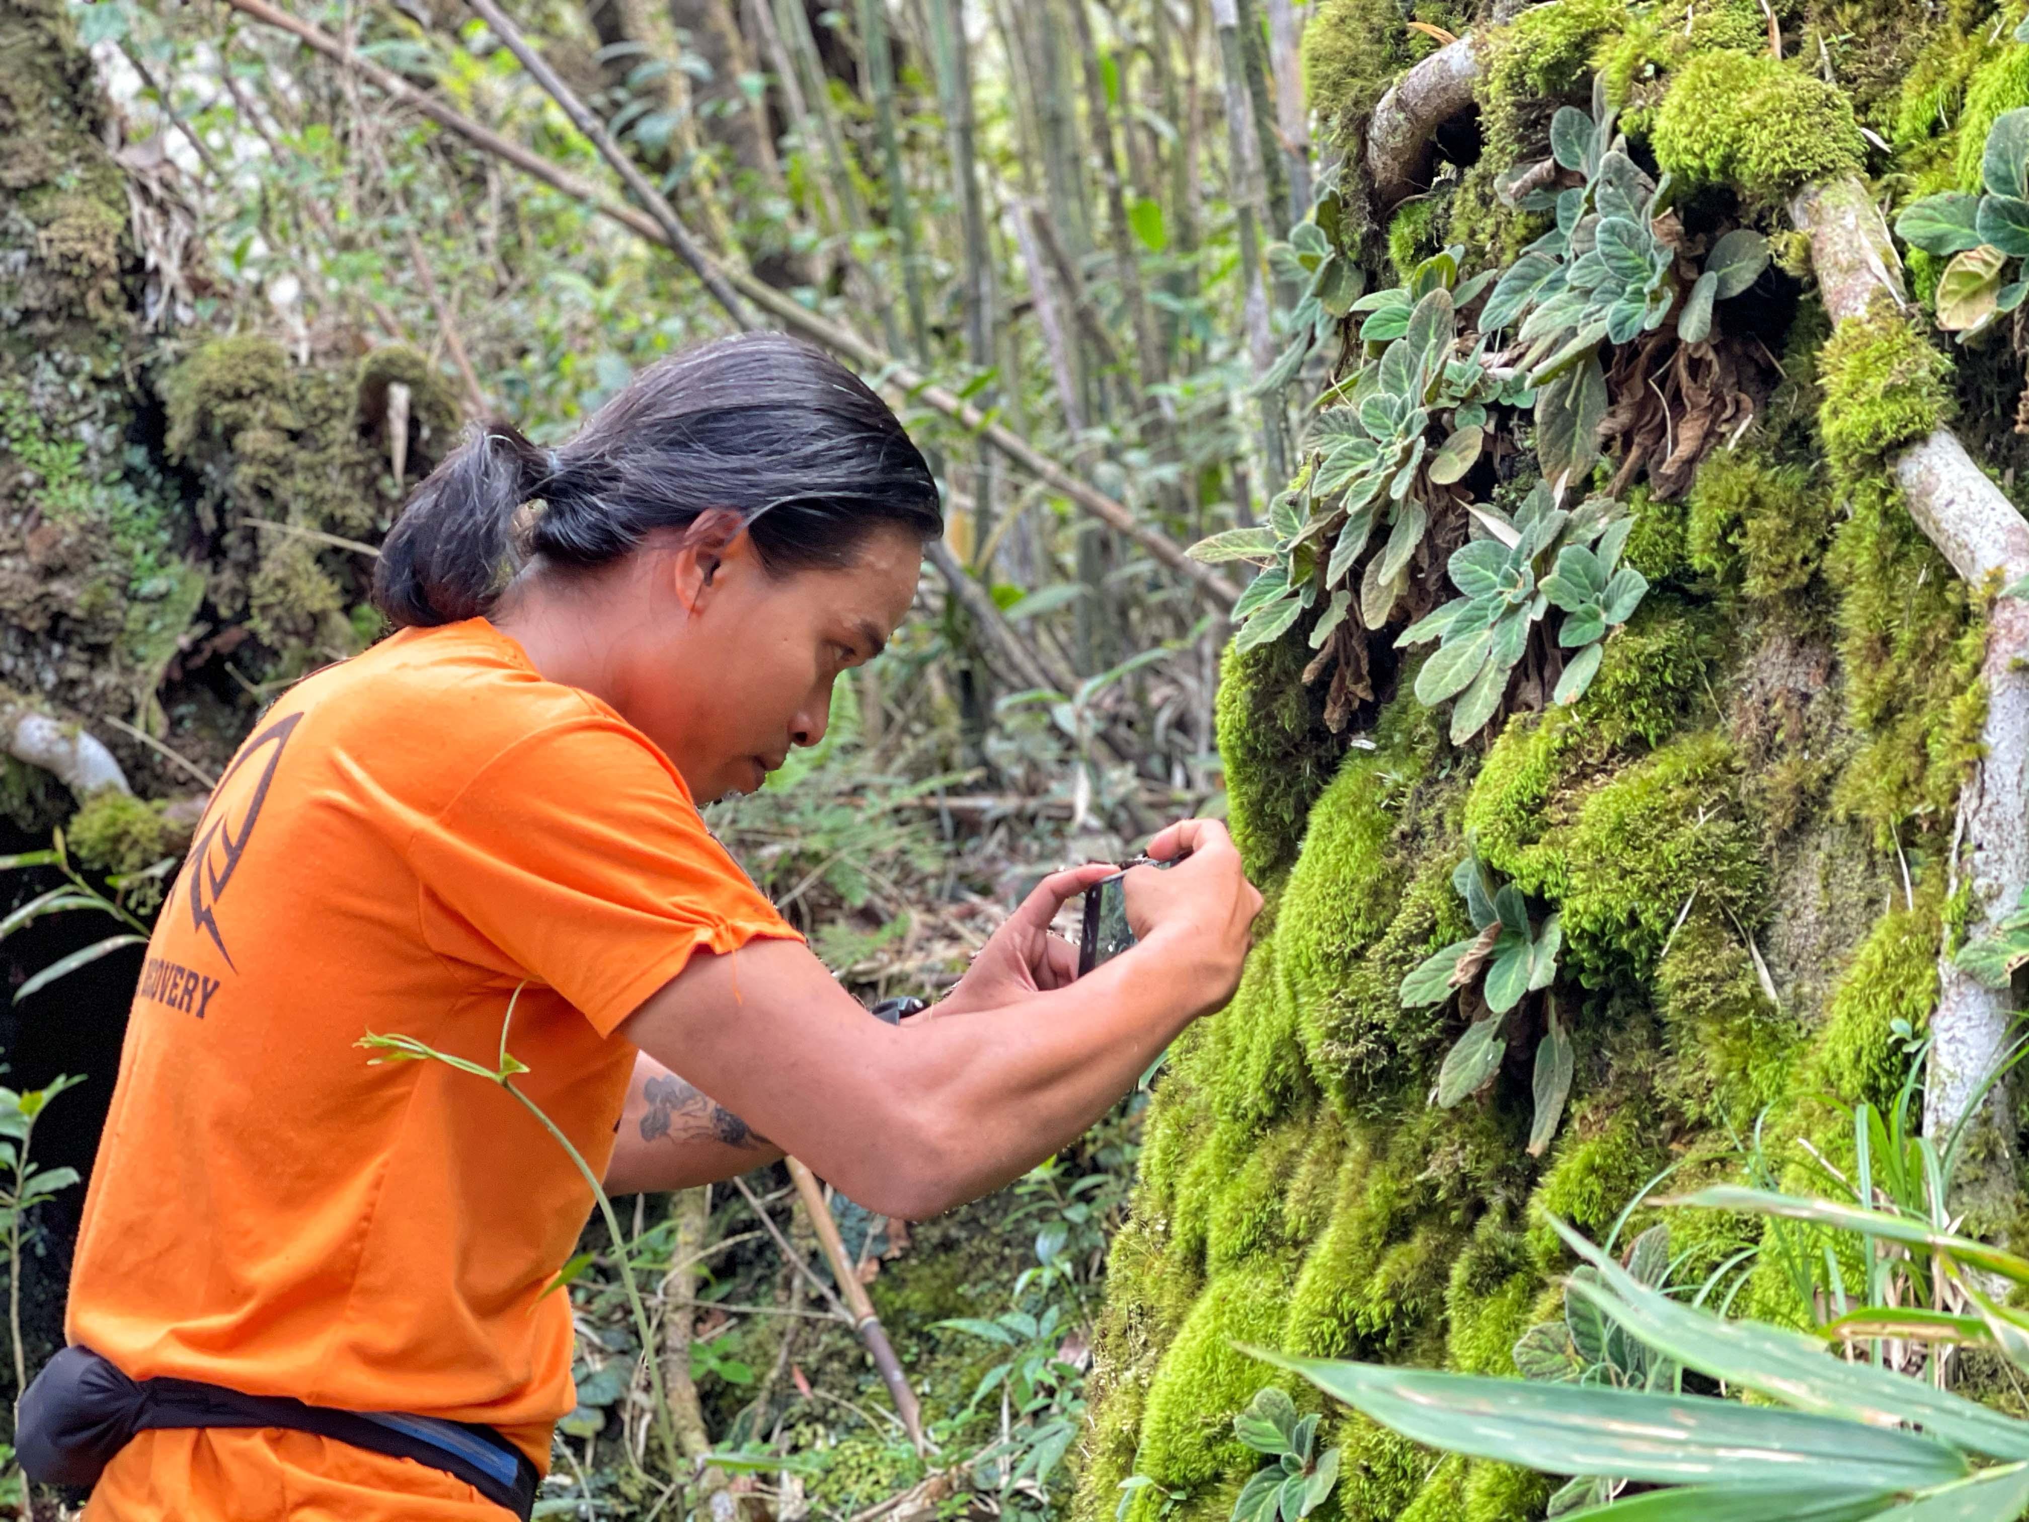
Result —
[[[513, 532], [523, 503], [542, 507]], [[943, 532], [937, 485], [852, 371], [781, 333], [661, 359], [558, 448], [493, 422], [416, 487], [381, 546], [373, 603], [396, 627], [493, 607], [523, 554], [605, 566], [657, 528], [741, 515], [775, 574], [848, 564], [881, 524]]]

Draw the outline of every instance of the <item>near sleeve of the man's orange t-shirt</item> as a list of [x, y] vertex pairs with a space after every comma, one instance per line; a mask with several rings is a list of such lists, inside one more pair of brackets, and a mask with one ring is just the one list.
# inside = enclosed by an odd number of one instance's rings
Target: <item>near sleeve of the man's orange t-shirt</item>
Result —
[[493, 757], [416, 830], [410, 858], [424, 893], [601, 1035], [700, 948], [797, 940], [661, 753], [599, 714]]

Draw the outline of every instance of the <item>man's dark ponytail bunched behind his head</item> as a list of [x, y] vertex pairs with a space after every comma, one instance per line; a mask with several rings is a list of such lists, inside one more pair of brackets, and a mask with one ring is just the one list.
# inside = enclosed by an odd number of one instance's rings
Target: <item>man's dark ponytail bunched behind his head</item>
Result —
[[493, 607], [513, 576], [515, 507], [542, 493], [548, 459], [493, 422], [416, 487], [373, 568], [373, 603], [390, 623], [457, 623]]

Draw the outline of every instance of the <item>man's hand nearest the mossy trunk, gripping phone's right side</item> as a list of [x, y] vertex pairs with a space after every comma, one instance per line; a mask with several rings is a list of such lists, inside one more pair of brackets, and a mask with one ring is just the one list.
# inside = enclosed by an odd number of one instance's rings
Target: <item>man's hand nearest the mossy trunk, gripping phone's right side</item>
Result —
[[1219, 820], [1179, 820], [1148, 842], [1157, 860], [1185, 852], [1189, 858], [1167, 871], [1136, 867], [1126, 875], [1128, 927], [1140, 946], [1201, 968], [1193, 986], [1203, 988], [1197, 1009], [1203, 1015], [1240, 986], [1262, 895], [1248, 883], [1240, 850]]

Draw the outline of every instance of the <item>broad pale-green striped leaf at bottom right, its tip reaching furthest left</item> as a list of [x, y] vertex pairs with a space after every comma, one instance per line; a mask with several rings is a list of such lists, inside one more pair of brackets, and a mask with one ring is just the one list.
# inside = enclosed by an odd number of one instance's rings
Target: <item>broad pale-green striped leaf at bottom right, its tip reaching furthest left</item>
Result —
[[1928, 1437], [1798, 1410], [1242, 1352], [1301, 1374], [1416, 1443], [1548, 1473], [1848, 1494], [1923, 1490], [1966, 1475], [1966, 1461]]

